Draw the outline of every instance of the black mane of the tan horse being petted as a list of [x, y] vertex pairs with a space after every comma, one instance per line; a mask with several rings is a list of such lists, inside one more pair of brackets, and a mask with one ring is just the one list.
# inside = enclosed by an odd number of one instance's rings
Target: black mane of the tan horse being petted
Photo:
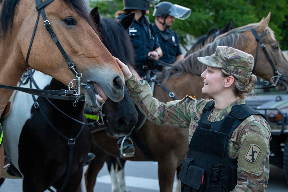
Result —
[[[8, 31], [8, 27], [12, 29], [15, 9], [18, 6], [20, 0], [3, 0], [2, 9], [0, 14], [0, 35], [5, 37]], [[71, 9], [74, 9], [80, 16], [82, 16], [93, 28], [93, 30], [98, 33], [97, 28], [94, 25], [92, 18], [89, 16], [88, 8], [84, 0], [64, 0]], [[35, 9], [36, 11], [36, 9]], [[41, 17], [41, 16], [40, 16]], [[48, 18], [49, 19], [49, 18]]]

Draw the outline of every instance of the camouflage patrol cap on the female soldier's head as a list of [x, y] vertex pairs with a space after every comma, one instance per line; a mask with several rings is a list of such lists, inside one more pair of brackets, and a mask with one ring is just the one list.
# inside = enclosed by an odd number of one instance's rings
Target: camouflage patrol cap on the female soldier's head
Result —
[[197, 59], [207, 66], [226, 69], [247, 78], [251, 76], [254, 65], [252, 55], [233, 47], [217, 46], [215, 54]]

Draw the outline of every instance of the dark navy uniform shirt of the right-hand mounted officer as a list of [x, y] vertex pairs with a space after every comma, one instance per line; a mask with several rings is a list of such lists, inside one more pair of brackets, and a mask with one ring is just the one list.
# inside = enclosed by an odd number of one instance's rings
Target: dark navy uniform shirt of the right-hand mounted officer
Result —
[[[163, 52], [163, 56], [160, 58], [161, 61], [166, 63], [174, 63], [176, 57], [181, 55], [179, 45], [179, 37], [170, 28], [166, 28], [165, 31], [160, 31], [156, 24], [152, 25], [153, 33], [158, 38], [160, 47]], [[160, 65], [155, 64], [156, 69], [161, 69]]]

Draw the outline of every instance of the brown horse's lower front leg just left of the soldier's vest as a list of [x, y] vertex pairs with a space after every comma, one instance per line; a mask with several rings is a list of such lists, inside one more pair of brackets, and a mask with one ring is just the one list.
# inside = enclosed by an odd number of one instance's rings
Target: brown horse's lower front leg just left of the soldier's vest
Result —
[[[176, 159], [176, 158], [175, 158]], [[177, 161], [163, 158], [163, 161], [158, 161], [158, 178], [160, 192], [172, 192], [175, 171], [177, 169]]]

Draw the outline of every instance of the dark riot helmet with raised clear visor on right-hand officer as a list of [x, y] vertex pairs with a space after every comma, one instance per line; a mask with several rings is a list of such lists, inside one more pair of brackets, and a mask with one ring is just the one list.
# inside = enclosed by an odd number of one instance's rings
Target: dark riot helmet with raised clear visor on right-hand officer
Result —
[[191, 14], [191, 9], [163, 1], [155, 6], [153, 16], [166, 18], [168, 15], [184, 20]]

